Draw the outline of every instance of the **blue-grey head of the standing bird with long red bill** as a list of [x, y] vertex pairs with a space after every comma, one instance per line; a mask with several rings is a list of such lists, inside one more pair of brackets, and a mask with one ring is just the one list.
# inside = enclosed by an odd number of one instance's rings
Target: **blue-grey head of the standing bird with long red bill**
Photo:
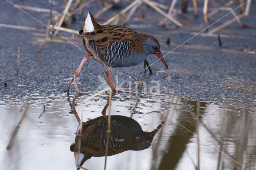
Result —
[[143, 43], [143, 49], [144, 49], [144, 52], [147, 53], [148, 55], [155, 54], [156, 56], [158, 56], [158, 58], [161, 59], [161, 61], [164, 63], [165, 67], [169, 69], [164, 58], [162, 57], [162, 53], [160, 51], [160, 45], [156, 38], [154, 38], [153, 36], [147, 35], [147, 39]]

